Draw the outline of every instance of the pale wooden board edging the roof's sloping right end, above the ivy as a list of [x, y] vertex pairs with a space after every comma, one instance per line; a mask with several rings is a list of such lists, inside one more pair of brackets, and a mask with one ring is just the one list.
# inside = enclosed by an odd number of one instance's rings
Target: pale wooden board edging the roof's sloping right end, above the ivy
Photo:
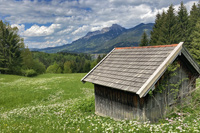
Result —
[[156, 71], [149, 77], [149, 79], [143, 84], [143, 86], [136, 92], [141, 97], [144, 97], [148, 93], [149, 88], [159, 79], [159, 77], [167, 69], [168, 65], [174, 61], [177, 55], [181, 52], [183, 42], [180, 42], [169, 56], [163, 61], [163, 63], [156, 69]]

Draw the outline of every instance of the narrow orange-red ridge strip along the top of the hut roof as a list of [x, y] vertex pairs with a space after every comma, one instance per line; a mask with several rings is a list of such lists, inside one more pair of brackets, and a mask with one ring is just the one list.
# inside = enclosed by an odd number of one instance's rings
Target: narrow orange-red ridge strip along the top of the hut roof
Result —
[[118, 47], [115, 49], [139, 49], [139, 48], [162, 48], [162, 47], [176, 47], [178, 44], [170, 45], [156, 45], [156, 46], [140, 46], [140, 47]]

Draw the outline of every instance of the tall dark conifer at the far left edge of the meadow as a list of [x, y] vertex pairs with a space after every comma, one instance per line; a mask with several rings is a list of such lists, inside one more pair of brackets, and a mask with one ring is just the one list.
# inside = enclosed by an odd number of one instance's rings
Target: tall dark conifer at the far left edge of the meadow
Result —
[[0, 21], [0, 71], [2, 73], [20, 74], [23, 39], [17, 34], [18, 29], [11, 28]]

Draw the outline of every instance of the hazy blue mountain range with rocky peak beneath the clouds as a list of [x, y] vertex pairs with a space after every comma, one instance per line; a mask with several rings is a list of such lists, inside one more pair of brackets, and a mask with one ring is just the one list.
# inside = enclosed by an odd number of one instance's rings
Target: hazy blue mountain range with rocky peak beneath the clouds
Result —
[[118, 24], [94, 32], [88, 32], [84, 37], [57, 47], [44, 49], [31, 49], [46, 53], [71, 52], [71, 53], [108, 53], [114, 47], [138, 46], [141, 36], [145, 31], [148, 36], [153, 23], [141, 23], [133, 28], [126, 29]]

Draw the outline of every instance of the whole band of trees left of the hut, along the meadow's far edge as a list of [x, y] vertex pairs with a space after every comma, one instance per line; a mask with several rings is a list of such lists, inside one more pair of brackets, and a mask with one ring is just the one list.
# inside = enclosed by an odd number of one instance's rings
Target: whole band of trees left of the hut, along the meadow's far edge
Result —
[[103, 57], [88, 54], [31, 52], [18, 35], [17, 27], [0, 21], [0, 73], [36, 76], [42, 73], [88, 72]]

